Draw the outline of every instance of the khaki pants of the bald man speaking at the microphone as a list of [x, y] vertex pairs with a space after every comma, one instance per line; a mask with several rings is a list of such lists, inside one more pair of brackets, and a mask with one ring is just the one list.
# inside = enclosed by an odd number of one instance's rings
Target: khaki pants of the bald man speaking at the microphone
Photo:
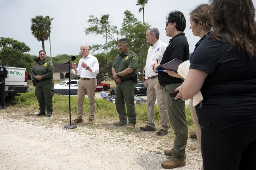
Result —
[[89, 79], [89, 80], [83, 80], [79, 79], [78, 84], [78, 97], [77, 97], [77, 108], [78, 108], [78, 114], [77, 119], [82, 119], [82, 113], [84, 108], [84, 98], [87, 94], [90, 104], [90, 119], [94, 119], [95, 117], [95, 90], [97, 87], [97, 79]]

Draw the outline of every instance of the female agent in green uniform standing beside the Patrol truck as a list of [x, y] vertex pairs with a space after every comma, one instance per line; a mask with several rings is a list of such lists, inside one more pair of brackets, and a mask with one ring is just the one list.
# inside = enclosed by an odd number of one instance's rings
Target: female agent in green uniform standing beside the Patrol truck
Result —
[[35, 63], [31, 69], [33, 85], [36, 86], [35, 95], [39, 103], [40, 112], [36, 116], [45, 115], [52, 116], [53, 104], [52, 97], [54, 95], [53, 81], [53, 64], [46, 58], [46, 52], [39, 51], [39, 57], [35, 58]]

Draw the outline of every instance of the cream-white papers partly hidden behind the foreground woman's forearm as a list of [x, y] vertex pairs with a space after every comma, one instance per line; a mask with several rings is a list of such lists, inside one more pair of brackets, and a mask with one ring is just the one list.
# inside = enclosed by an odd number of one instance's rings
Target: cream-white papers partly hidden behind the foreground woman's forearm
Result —
[[[181, 77], [183, 77], [184, 79], [186, 79], [187, 74], [188, 74], [188, 70], [190, 68], [190, 61], [184, 61], [183, 63], [181, 63], [178, 67], [178, 74], [181, 75]], [[193, 106], [197, 106], [197, 104], [201, 103], [203, 101], [203, 96], [201, 91], [199, 91], [194, 97], [193, 97]]]

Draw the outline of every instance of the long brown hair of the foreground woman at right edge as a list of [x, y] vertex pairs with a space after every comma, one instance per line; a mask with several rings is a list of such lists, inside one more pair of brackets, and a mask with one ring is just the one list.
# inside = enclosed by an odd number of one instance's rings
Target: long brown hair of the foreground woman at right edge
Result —
[[246, 51], [250, 59], [256, 56], [255, 7], [252, 0], [209, 0], [209, 15], [213, 22], [212, 36], [222, 40], [225, 31], [230, 49]]

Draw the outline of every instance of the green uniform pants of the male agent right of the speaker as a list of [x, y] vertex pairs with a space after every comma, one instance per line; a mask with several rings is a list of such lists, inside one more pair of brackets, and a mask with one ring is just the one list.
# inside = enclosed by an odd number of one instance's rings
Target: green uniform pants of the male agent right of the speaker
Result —
[[135, 125], [136, 113], [134, 107], [134, 82], [129, 80], [116, 85], [116, 108], [119, 114], [119, 120], [121, 122], [127, 123], [125, 108], [126, 103], [128, 123]]

